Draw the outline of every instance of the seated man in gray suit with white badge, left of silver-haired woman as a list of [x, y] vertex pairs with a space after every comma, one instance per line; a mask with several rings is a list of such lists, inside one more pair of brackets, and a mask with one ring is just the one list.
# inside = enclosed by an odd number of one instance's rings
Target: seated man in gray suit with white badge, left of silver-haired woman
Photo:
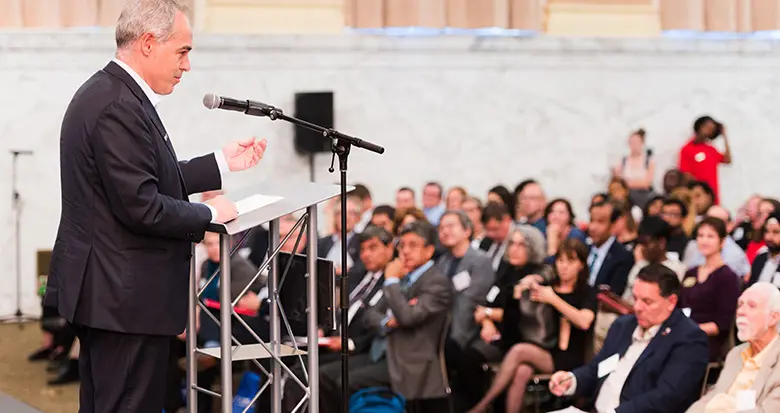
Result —
[[447, 340], [448, 365], [457, 365], [460, 354], [479, 336], [480, 326], [474, 321], [478, 305], [485, 305], [496, 274], [490, 257], [471, 248], [473, 224], [463, 211], [447, 211], [439, 223], [439, 240], [447, 252], [436, 266], [452, 281], [455, 299], [452, 325]]

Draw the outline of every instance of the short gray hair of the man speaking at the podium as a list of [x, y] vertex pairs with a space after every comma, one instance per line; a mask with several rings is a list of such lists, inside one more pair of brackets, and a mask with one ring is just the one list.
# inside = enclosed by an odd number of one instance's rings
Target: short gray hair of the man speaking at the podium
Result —
[[116, 47], [123, 49], [151, 33], [161, 42], [173, 34], [176, 12], [186, 14], [187, 5], [180, 0], [128, 0], [116, 22]]

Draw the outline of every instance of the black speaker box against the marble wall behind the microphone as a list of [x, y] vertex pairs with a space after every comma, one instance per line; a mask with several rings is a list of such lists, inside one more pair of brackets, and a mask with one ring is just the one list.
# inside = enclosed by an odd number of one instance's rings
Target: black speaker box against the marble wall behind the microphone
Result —
[[[303, 92], [295, 94], [295, 114], [298, 119], [325, 128], [333, 127], [333, 92]], [[295, 150], [300, 154], [330, 152], [331, 140], [321, 133], [295, 126]]]

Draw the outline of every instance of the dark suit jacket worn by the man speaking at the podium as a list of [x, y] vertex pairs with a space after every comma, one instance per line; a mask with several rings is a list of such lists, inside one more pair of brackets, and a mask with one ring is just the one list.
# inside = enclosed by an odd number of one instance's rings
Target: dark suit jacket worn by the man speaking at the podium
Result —
[[141, 87], [109, 63], [62, 121], [62, 215], [44, 302], [69, 322], [176, 335], [187, 322], [191, 247], [211, 221], [188, 195], [221, 187], [216, 159], [179, 162]]

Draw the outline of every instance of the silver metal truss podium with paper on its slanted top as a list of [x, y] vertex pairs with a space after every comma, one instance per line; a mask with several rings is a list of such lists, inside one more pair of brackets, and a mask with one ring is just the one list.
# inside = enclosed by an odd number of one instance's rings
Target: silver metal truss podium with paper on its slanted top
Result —
[[[347, 188], [347, 192], [354, 187]], [[334, 198], [340, 194], [338, 185], [322, 185], [314, 183], [289, 183], [289, 182], [264, 182], [249, 189], [236, 191], [228, 197], [236, 202], [239, 209], [238, 218], [226, 223], [209, 225], [207, 231], [220, 234], [220, 264], [219, 269], [207, 279], [206, 285], [199, 286], [195, 267], [195, 245], [193, 244], [192, 258], [190, 262], [189, 284], [189, 312], [187, 328], [187, 412], [197, 413], [198, 392], [206, 393], [220, 399], [220, 411], [230, 413], [233, 411], [233, 361], [250, 360], [264, 373], [264, 383], [255, 394], [249, 406], [255, 404], [260, 395], [271, 386], [271, 412], [282, 411], [282, 377], [287, 375], [286, 385], [297, 385], [304, 390], [304, 396], [295, 407], [295, 412], [302, 412], [303, 406], [308, 402], [308, 411], [319, 412], [319, 357], [318, 357], [318, 304], [317, 304], [317, 204]], [[293, 212], [305, 210], [306, 212], [296, 222], [293, 230], [285, 237], [279, 239], [279, 219]], [[262, 224], [269, 225], [268, 255], [257, 273], [243, 288], [241, 294], [235, 299], [231, 297], [230, 257], [236, 252], [231, 251], [233, 239], [239, 234], [248, 238], [252, 230]], [[306, 231], [306, 296], [307, 296], [307, 345], [306, 351], [298, 347], [297, 341], [291, 331], [290, 324], [284, 308], [279, 300], [280, 281], [284, 280], [278, 265], [278, 256], [283, 245], [292, 234], [301, 228], [301, 233]], [[243, 241], [243, 239], [241, 240]], [[296, 245], [300, 242], [300, 236]], [[236, 246], [241, 245], [238, 242]], [[237, 249], [237, 248], [236, 248]], [[289, 266], [287, 267], [289, 268]], [[268, 304], [269, 304], [269, 329], [270, 342], [263, 342], [235, 310], [238, 300], [249, 290], [255, 280], [268, 271]], [[211, 314], [209, 309], [200, 299], [206, 287], [215, 282], [219, 275], [219, 320]], [[204, 275], [207, 276], [207, 275]], [[334, 281], [335, 282], [335, 281]], [[303, 291], [301, 291], [303, 293]], [[201, 349], [197, 347], [197, 331], [192, 326], [196, 325], [197, 308], [201, 308], [201, 317], [211, 317], [220, 329], [220, 347]], [[259, 344], [243, 344], [233, 336], [232, 323], [236, 321], [242, 324], [250, 335]], [[290, 337], [291, 345], [282, 344], [282, 329]], [[220, 393], [204, 389], [198, 386], [197, 356], [204, 354], [216, 357], [220, 360], [221, 390]], [[307, 363], [303, 363], [303, 356], [307, 356]], [[292, 373], [283, 359], [293, 357], [301, 361], [304, 368], [304, 381], [302, 382]], [[258, 360], [269, 359], [271, 369], [268, 371]], [[247, 407], [248, 409], [249, 407]]]

